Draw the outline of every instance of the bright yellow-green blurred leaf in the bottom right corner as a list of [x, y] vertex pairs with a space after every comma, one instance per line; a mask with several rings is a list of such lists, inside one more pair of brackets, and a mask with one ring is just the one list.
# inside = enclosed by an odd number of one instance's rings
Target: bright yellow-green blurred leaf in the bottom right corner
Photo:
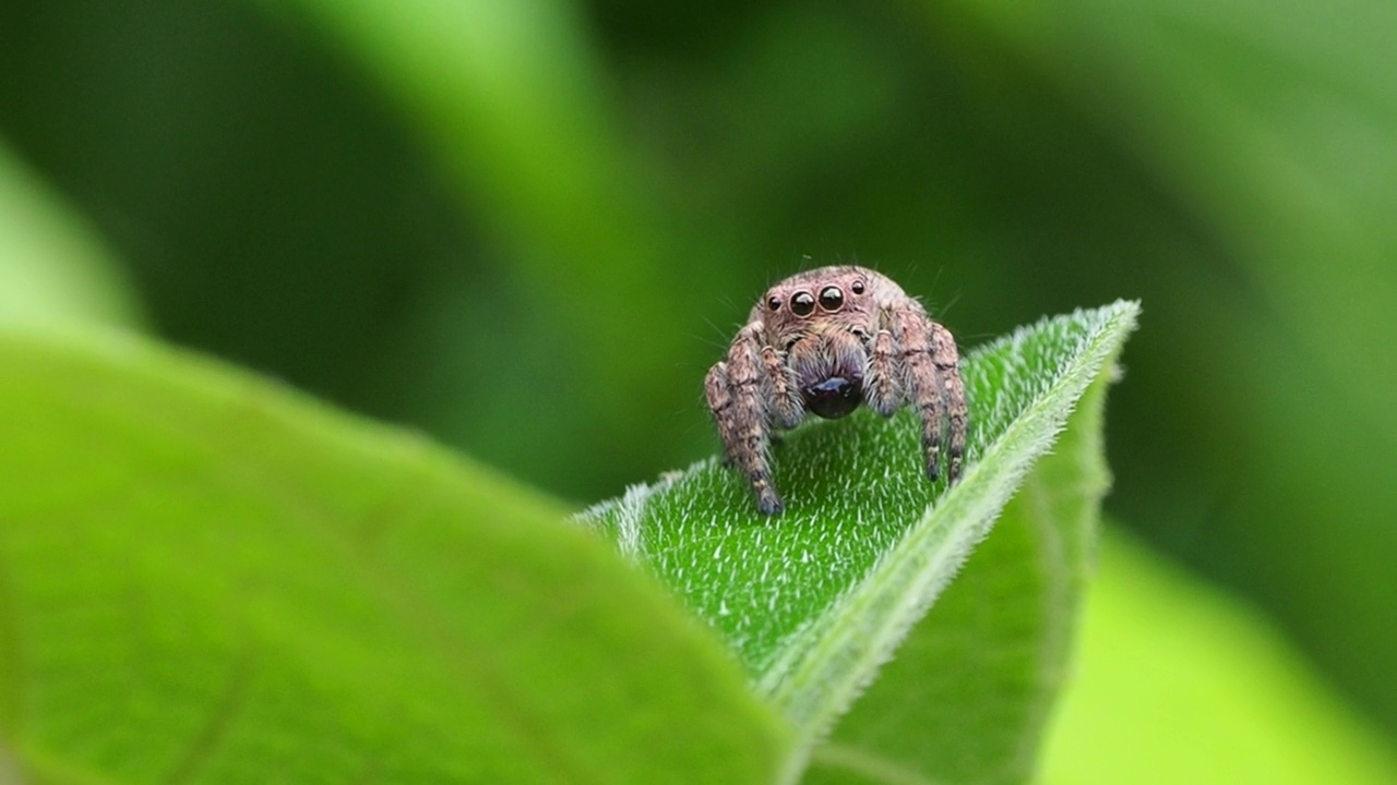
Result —
[[1108, 531], [1042, 782], [1397, 782], [1397, 757], [1250, 609]]

